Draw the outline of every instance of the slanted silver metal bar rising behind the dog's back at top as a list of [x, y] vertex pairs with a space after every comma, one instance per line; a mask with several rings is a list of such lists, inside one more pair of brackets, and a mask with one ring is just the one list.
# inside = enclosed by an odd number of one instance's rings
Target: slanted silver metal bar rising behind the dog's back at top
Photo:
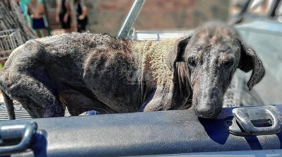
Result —
[[135, 0], [123, 25], [120, 28], [118, 36], [121, 38], [126, 38], [129, 31], [131, 30], [133, 23], [135, 22], [137, 16], [140, 13], [140, 10], [144, 4], [145, 0]]

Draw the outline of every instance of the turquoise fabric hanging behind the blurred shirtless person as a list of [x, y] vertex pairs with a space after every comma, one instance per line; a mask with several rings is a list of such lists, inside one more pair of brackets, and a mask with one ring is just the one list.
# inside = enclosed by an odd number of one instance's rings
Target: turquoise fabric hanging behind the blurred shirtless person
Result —
[[[44, 7], [45, 6], [45, 1], [44, 0], [37, 0], [39, 2], [41, 2], [43, 4]], [[21, 6], [22, 6], [22, 10], [24, 11], [24, 19], [26, 20], [26, 22], [29, 24], [29, 26], [31, 27], [32, 26], [32, 19], [30, 16], [28, 16], [28, 13], [27, 13], [27, 4], [30, 3], [30, 0], [21, 0], [20, 1], [21, 3]], [[46, 8], [45, 8], [46, 9]], [[44, 19], [44, 24], [46, 26], [46, 30], [47, 30], [47, 35], [50, 35], [50, 30], [49, 30], [49, 24], [48, 24], [48, 21], [47, 21], [47, 16], [44, 15], [43, 16], [43, 19]], [[32, 27], [31, 27], [32, 28]], [[33, 31], [36, 33], [36, 30], [33, 29]], [[40, 30], [40, 33], [41, 35], [43, 36], [43, 31]]]

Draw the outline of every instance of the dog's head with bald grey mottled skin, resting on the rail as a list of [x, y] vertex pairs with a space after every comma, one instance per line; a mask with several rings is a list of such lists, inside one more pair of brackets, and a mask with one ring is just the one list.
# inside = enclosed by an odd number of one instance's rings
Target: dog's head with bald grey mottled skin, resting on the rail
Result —
[[192, 88], [192, 106], [199, 117], [215, 117], [222, 109], [223, 95], [237, 68], [251, 70], [247, 83], [253, 88], [265, 74], [255, 51], [242, 43], [235, 28], [209, 22], [188, 38], [179, 40], [176, 62], [185, 62]]

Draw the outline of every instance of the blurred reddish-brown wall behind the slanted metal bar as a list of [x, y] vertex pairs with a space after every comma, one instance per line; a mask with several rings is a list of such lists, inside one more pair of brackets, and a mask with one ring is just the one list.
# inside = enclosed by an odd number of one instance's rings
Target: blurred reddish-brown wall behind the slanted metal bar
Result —
[[[87, 30], [91, 33], [117, 35], [134, 0], [84, 0], [88, 6]], [[162, 30], [187, 29], [211, 19], [227, 21], [228, 0], [147, 0], [133, 27]], [[50, 30], [56, 34], [56, 1], [45, 0]], [[73, 24], [74, 26], [75, 24]]]

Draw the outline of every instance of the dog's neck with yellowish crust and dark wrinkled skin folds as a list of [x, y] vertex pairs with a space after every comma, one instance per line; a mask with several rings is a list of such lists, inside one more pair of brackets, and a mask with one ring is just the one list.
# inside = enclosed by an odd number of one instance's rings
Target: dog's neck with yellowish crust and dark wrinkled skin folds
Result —
[[191, 88], [185, 63], [174, 65], [176, 51], [176, 42], [133, 42], [133, 53], [139, 58], [138, 64], [146, 78], [144, 81], [170, 92], [177, 104], [174, 108], [179, 109], [184, 108], [190, 99]]

